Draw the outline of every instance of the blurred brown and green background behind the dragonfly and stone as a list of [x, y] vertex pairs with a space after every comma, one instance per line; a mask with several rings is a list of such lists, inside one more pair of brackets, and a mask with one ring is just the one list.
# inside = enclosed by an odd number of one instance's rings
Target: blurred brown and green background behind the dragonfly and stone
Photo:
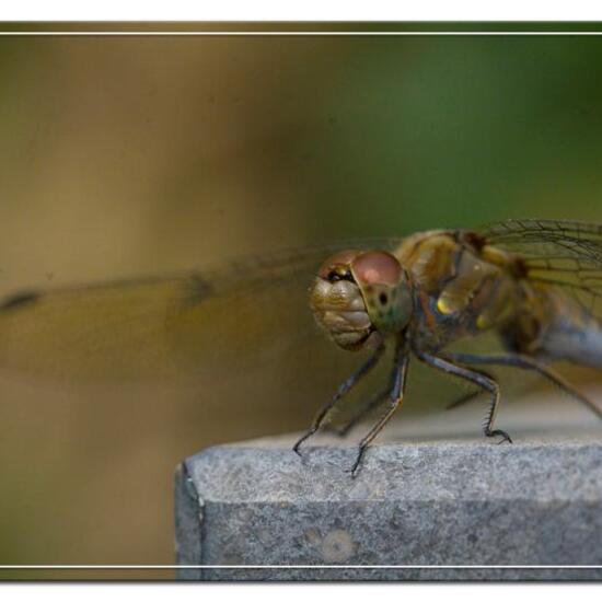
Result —
[[[1, 297], [512, 217], [602, 222], [598, 37], [2, 37], [0, 85]], [[304, 428], [336, 382], [309, 350], [248, 355], [198, 389], [2, 374], [0, 563], [172, 564], [177, 462]]]

